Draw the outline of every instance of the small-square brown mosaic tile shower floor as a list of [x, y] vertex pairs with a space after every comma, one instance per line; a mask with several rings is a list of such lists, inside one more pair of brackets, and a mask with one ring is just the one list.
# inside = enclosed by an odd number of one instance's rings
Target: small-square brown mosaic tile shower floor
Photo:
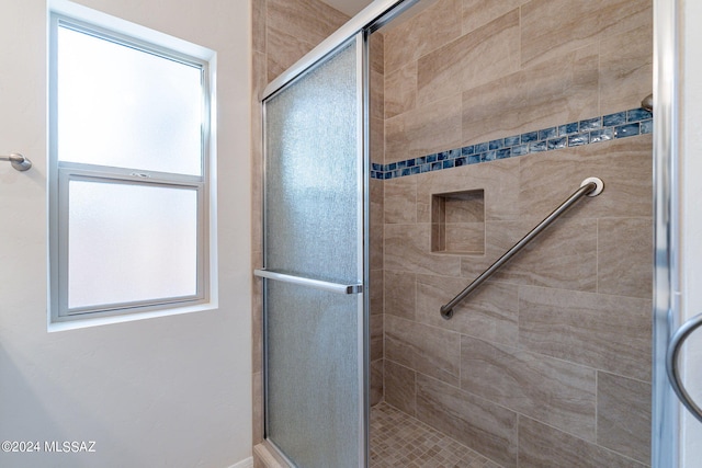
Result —
[[371, 408], [371, 468], [500, 468], [465, 445], [382, 402]]

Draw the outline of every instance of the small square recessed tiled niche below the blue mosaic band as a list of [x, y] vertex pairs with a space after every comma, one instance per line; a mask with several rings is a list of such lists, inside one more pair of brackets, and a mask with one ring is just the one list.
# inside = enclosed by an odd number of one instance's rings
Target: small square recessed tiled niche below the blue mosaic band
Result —
[[431, 195], [431, 251], [485, 254], [485, 191]]

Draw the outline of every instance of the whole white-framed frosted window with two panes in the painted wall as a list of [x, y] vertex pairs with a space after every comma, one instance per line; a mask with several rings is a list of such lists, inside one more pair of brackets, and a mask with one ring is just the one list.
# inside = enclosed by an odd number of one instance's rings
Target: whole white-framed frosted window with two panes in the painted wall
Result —
[[52, 322], [208, 300], [208, 64], [52, 15]]

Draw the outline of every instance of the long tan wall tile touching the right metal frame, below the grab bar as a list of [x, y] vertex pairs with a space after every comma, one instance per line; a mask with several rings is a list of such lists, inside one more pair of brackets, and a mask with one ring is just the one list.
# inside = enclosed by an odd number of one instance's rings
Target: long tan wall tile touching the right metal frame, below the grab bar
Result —
[[644, 381], [650, 380], [649, 299], [520, 288], [524, 350]]

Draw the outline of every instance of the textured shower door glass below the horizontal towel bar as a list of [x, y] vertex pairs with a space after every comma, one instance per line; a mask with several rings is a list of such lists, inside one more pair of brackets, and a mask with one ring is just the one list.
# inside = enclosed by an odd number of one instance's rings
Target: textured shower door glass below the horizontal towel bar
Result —
[[268, 284], [268, 435], [298, 467], [358, 467], [360, 297]]

